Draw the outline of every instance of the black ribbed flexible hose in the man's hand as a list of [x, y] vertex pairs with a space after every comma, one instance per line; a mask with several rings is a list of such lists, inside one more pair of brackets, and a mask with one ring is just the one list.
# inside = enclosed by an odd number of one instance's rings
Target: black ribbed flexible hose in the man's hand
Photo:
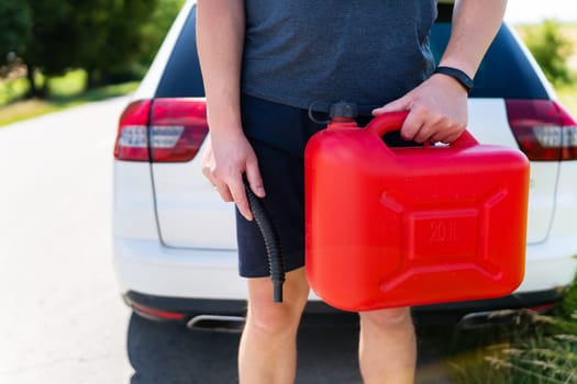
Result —
[[244, 180], [244, 189], [246, 191], [246, 197], [248, 199], [251, 212], [253, 213], [256, 225], [265, 240], [266, 252], [268, 256], [268, 271], [270, 273], [270, 280], [273, 281], [273, 300], [275, 303], [282, 303], [285, 263], [282, 261], [278, 234], [273, 226], [273, 222], [270, 221], [263, 201], [253, 192], [253, 190], [251, 190], [246, 180]]

